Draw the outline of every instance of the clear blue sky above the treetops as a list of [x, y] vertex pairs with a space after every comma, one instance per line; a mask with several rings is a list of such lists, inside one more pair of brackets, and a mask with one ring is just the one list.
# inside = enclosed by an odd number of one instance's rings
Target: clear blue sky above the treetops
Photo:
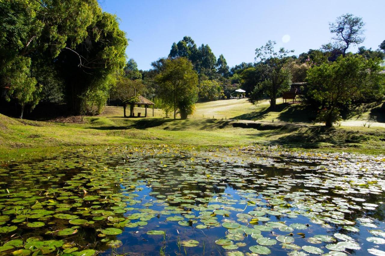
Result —
[[127, 56], [142, 70], [185, 35], [208, 44], [217, 58], [223, 54], [229, 66], [253, 62], [255, 49], [268, 40], [298, 55], [328, 43], [328, 22], [345, 13], [366, 23], [363, 46], [377, 49], [385, 40], [385, 0], [104, 0], [101, 6], [121, 19], [131, 40]]

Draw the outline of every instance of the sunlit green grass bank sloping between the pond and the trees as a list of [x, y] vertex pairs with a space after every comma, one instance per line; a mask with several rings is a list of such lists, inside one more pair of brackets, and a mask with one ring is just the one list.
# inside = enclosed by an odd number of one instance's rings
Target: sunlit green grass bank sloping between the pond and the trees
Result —
[[[268, 110], [268, 101], [254, 106], [240, 99], [199, 103], [189, 120], [162, 118], [161, 110], [156, 110], [154, 118], [123, 118], [119, 107], [107, 107], [100, 116], [86, 116], [82, 123], [18, 120], [0, 115], [0, 158], [49, 155], [68, 147], [147, 144], [195, 148], [278, 145], [290, 150], [371, 154], [385, 151], [385, 128], [377, 123], [370, 128], [361, 123], [333, 128], [311, 125], [304, 120], [308, 116], [303, 108], [279, 104], [278, 111], [273, 112]], [[222, 120], [225, 117], [232, 120]], [[288, 122], [290, 118], [294, 123]]]

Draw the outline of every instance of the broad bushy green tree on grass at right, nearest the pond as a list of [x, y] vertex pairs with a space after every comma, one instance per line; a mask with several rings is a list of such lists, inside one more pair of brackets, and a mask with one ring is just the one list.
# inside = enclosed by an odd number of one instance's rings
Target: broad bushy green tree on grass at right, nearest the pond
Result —
[[383, 92], [384, 75], [379, 59], [365, 59], [361, 55], [338, 57], [308, 70], [308, 96], [320, 103], [318, 120], [332, 126], [340, 119], [340, 107], [358, 100], [370, 91]]

